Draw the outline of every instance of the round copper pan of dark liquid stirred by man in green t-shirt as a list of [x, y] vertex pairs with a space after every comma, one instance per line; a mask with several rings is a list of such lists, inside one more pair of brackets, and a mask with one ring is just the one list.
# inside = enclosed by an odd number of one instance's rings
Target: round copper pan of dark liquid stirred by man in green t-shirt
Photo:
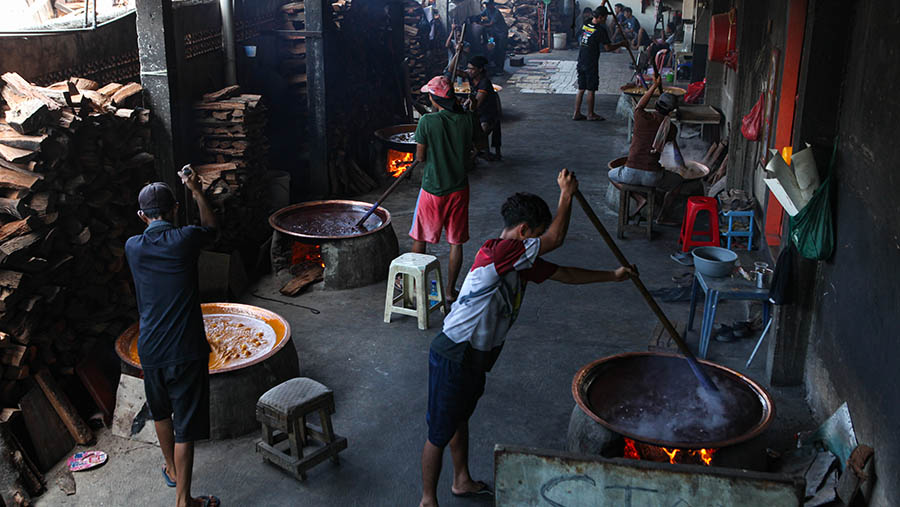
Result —
[[391, 223], [388, 210], [379, 207], [362, 228], [356, 222], [372, 207], [360, 201], [309, 201], [281, 208], [269, 217], [269, 225], [297, 241], [321, 244], [348, 238], [368, 236]]

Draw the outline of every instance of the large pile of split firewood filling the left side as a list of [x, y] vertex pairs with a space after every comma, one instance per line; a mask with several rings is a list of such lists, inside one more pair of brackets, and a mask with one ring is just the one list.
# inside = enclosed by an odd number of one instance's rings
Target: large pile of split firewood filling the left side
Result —
[[[143, 228], [137, 193], [153, 177], [153, 155], [139, 84], [0, 78], [0, 403], [15, 407], [44, 368], [78, 383], [75, 365], [134, 322], [124, 247]], [[25, 404], [22, 412], [45, 418]], [[29, 426], [33, 441], [37, 431]]]

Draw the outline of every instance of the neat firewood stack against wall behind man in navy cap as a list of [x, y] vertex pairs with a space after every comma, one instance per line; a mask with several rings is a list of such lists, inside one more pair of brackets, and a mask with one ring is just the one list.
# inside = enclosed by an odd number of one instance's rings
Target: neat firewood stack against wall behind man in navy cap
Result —
[[260, 199], [268, 166], [261, 96], [237, 85], [207, 93], [194, 104], [200, 157], [194, 168], [210, 202], [222, 214], [217, 250], [229, 252], [257, 236], [265, 220]]

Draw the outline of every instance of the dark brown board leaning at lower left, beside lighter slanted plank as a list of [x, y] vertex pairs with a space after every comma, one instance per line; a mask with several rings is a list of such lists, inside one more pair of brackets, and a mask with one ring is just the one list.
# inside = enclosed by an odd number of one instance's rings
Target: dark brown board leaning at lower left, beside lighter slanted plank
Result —
[[41, 472], [46, 472], [75, 447], [75, 440], [39, 387], [22, 397], [19, 408], [34, 444], [34, 458]]

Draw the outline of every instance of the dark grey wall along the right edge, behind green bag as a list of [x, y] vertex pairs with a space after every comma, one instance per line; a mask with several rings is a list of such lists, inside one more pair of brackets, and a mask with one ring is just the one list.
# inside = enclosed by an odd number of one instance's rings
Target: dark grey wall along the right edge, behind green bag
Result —
[[[817, 17], [840, 13], [820, 3]], [[848, 45], [850, 55], [833, 173], [836, 250], [818, 267], [813, 313], [807, 316], [812, 332], [806, 383], [819, 418], [846, 401], [860, 443], [875, 448], [878, 480], [870, 505], [900, 505], [900, 144], [892, 128], [900, 120], [900, 102], [889, 88], [873, 86], [872, 79], [873, 69], [879, 82], [900, 79], [890, 49], [900, 45], [900, 4], [855, 5], [852, 22], [845, 11], [834, 23], [843, 28], [834, 36]], [[806, 90], [810, 107], [837, 107], [834, 100], [815, 95], [815, 82]], [[810, 137], [816, 140], [814, 132]], [[829, 157], [830, 143], [817, 153], [820, 167]]]

